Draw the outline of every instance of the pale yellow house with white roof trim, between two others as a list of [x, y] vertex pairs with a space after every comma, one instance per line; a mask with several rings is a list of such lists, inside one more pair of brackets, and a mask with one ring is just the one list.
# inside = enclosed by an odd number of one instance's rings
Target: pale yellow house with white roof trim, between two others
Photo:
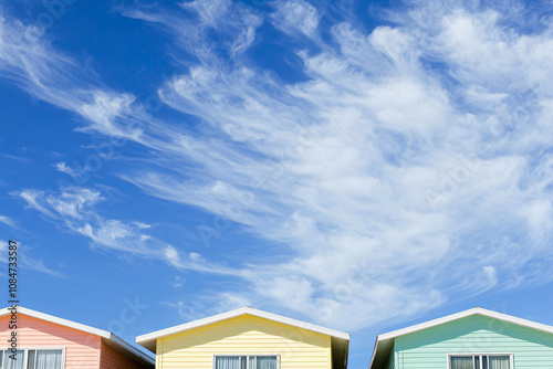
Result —
[[243, 307], [136, 341], [157, 369], [346, 369], [349, 335]]

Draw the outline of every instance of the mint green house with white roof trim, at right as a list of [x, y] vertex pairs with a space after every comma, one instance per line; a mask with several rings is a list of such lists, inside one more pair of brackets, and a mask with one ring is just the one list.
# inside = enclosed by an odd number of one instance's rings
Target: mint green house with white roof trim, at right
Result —
[[376, 338], [368, 369], [553, 369], [553, 327], [472, 308]]

